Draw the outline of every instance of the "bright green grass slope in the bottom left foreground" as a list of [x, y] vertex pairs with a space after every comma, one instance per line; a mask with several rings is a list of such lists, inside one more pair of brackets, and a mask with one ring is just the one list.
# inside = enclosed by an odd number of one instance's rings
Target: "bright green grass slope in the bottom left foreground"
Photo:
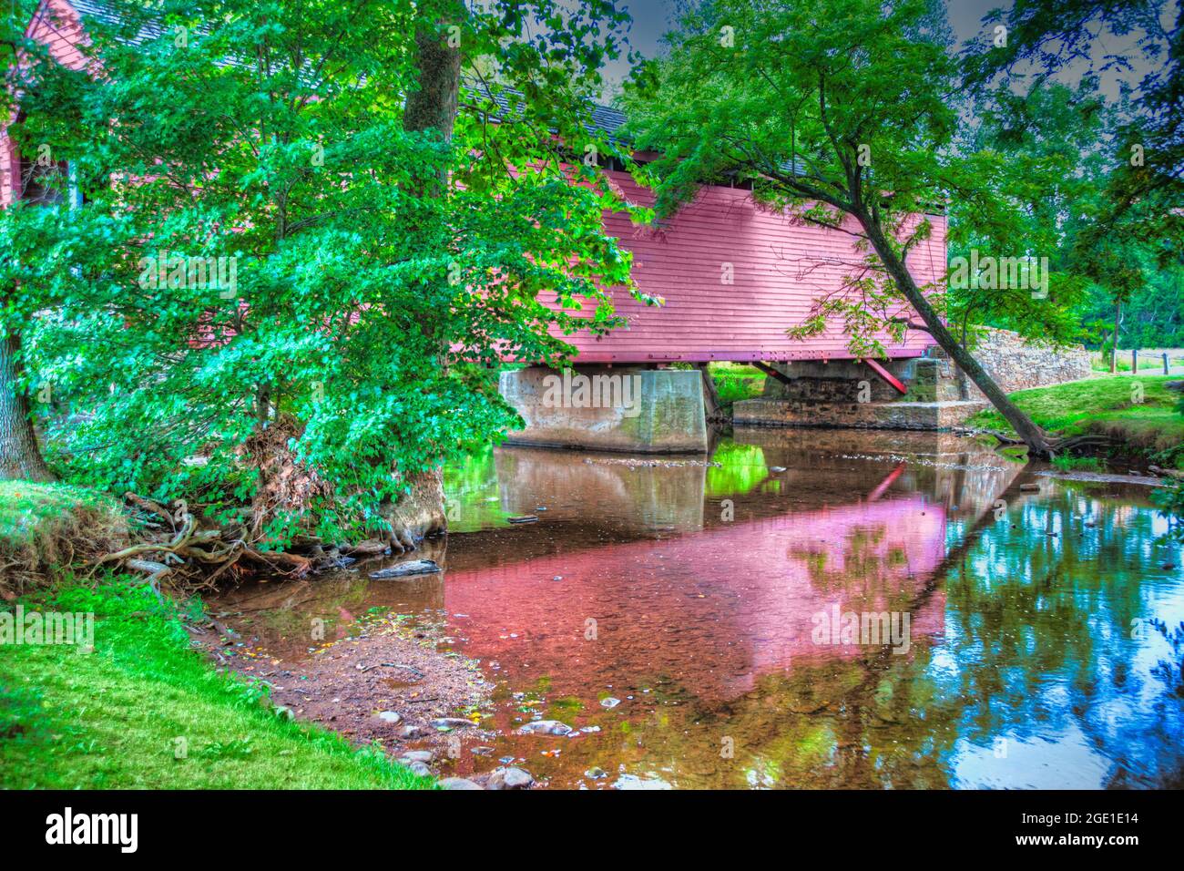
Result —
[[94, 613], [95, 651], [0, 643], [0, 788], [432, 786], [378, 749], [292, 722], [262, 685], [215, 671], [192, 648], [179, 607], [147, 587], [67, 584], [21, 604]]

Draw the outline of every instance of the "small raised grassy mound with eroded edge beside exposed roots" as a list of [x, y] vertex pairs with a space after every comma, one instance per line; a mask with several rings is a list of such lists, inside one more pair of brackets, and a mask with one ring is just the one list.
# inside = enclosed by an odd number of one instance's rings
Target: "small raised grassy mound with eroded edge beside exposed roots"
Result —
[[127, 538], [110, 499], [66, 483], [0, 481], [0, 594], [45, 585], [58, 568], [107, 552]]

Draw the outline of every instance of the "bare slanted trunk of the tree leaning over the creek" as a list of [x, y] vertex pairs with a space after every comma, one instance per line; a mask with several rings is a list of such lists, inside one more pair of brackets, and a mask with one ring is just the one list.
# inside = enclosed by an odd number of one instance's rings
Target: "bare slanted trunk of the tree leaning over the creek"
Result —
[[870, 216], [861, 216], [860, 223], [863, 225], [864, 231], [868, 233], [868, 239], [871, 242], [871, 246], [875, 248], [876, 254], [883, 262], [884, 268], [892, 276], [896, 287], [908, 300], [913, 309], [921, 315], [921, 320], [925, 321], [925, 326], [941, 350], [950, 354], [951, 359], [958, 364], [966, 376], [974, 382], [979, 390], [991, 401], [991, 404], [998, 409], [999, 414], [1006, 418], [1008, 423], [1016, 430], [1021, 438], [1023, 438], [1024, 444], [1028, 446], [1029, 450], [1036, 456], [1049, 456], [1053, 449], [1053, 443], [1049, 437], [1044, 434], [1040, 427], [1037, 427], [1032, 420], [1025, 415], [1019, 408], [1008, 398], [1008, 395], [1003, 392], [1003, 389], [995, 383], [995, 379], [987, 374], [986, 370], [983, 369], [982, 364], [974, 359], [965, 345], [954, 338], [953, 333], [946, 327], [938, 316], [938, 313], [933, 310], [933, 306], [929, 301], [925, 299], [925, 294], [913, 281], [912, 274], [908, 271], [908, 267], [896, 254], [896, 250], [888, 242], [888, 237], [884, 235], [883, 230]]

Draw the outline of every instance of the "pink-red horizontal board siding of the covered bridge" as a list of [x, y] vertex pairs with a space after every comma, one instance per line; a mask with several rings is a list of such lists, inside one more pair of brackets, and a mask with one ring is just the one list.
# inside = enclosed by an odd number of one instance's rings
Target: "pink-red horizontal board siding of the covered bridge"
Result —
[[[626, 197], [645, 205], [652, 194], [628, 173], [610, 172]], [[920, 283], [939, 280], [946, 265], [946, 219], [929, 216], [933, 232], [909, 255]], [[661, 230], [633, 226], [629, 218], [606, 218], [611, 233], [633, 252], [633, 276], [665, 305], [648, 307], [620, 289], [617, 313], [628, 329], [596, 339], [565, 337], [579, 363], [656, 363], [706, 360], [849, 359], [842, 331], [794, 341], [785, 329], [800, 324], [812, 301], [839, 286], [862, 255], [854, 237], [792, 223], [759, 209], [748, 191], [706, 187]], [[721, 283], [725, 262], [733, 284]], [[909, 331], [905, 342], [883, 337], [890, 357], [918, 357], [933, 340]]]

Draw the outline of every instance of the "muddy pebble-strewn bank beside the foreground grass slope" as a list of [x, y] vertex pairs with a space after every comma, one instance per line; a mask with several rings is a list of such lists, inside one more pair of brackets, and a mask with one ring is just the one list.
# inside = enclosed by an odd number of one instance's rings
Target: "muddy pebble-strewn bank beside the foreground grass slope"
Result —
[[[359, 583], [380, 568], [416, 558], [443, 561], [443, 543], [403, 559], [360, 566]], [[372, 582], [422, 602], [431, 581], [410, 577]], [[221, 633], [195, 635], [219, 665], [268, 686], [271, 700], [301, 721], [333, 729], [359, 747], [381, 745], [422, 774], [465, 774], [487, 786], [491, 771], [475, 773], [466, 756], [488, 755], [490, 691], [477, 661], [452, 646], [443, 609], [417, 610], [359, 601], [340, 579], [257, 582], [219, 596], [211, 616]], [[297, 617], [307, 598], [339, 593], [336, 619]], [[394, 602], [394, 604], [399, 604]], [[289, 620], [276, 620], [287, 614]], [[507, 758], [502, 764], [515, 762]], [[511, 779], [513, 780], [513, 779]], [[516, 781], [515, 781], [516, 782]]]

